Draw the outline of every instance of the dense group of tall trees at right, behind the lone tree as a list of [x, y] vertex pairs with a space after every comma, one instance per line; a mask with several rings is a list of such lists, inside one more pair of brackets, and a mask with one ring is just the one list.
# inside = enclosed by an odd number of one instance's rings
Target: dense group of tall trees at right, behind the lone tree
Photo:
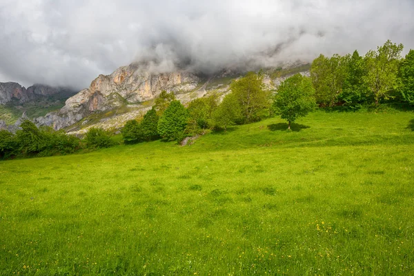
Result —
[[390, 101], [414, 103], [414, 50], [402, 58], [402, 44], [386, 41], [360, 56], [319, 55], [311, 79], [319, 106], [360, 108]]

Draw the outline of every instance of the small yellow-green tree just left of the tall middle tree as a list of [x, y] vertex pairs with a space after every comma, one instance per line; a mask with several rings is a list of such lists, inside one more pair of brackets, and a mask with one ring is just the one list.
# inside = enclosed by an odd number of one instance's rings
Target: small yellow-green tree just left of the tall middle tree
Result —
[[227, 131], [228, 126], [234, 126], [240, 117], [242, 109], [233, 93], [226, 95], [213, 113], [215, 126], [224, 128], [224, 131]]

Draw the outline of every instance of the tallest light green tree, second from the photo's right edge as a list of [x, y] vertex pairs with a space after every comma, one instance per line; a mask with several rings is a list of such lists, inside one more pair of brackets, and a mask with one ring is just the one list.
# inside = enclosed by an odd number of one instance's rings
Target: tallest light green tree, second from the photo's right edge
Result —
[[386, 41], [376, 51], [370, 50], [365, 55], [367, 74], [364, 78], [371, 90], [375, 104], [381, 99], [388, 99], [391, 90], [397, 88], [397, 73], [400, 65], [401, 52], [404, 46]]

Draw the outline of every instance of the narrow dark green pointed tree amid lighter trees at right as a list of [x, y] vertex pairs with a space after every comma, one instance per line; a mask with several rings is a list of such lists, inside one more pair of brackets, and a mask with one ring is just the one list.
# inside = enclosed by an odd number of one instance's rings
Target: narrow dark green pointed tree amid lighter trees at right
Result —
[[359, 56], [357, 50], [349, 58], [346, 70], [344, 88], [339, 98], [344, 102], [345, 106], [357, 108], [366, 101], [366, 96], [369, 93], [369, 89], [364, 82], [366, 77], [364, 57]]

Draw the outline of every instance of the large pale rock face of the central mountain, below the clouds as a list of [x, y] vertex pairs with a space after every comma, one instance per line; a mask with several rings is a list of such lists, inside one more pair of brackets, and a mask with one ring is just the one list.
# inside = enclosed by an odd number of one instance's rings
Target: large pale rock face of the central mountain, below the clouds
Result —
[[162, 90], [175, 93], [193, 91], [200, 81], [199, 77], [188, 72], [151, 75], [132, 64], [118, 68], [111, 75], [99, 75], [89, 88], [66, 100], [61, 110], [39, 117], [35, 122], [55, 129], [65, 128], [92, 112], [154, 99]]

